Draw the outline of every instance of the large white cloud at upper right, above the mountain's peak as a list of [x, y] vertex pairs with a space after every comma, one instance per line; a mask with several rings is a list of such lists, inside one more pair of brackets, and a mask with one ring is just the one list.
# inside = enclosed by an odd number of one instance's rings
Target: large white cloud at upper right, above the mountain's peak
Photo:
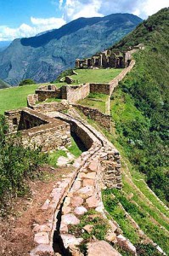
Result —
[[60, 1], [66, 21], [115, 13], [130, 13], [146, 19], [168, 6], [168, 0], [66, 0], [65, 4]]

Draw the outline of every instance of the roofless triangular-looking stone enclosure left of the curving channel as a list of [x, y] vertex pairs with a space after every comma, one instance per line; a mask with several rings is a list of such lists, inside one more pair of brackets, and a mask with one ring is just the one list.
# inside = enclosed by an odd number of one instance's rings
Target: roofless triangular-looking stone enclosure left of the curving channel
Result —
[[[5, 113], [9, 131], [20, 131], [25, 147], [42, 146], [42, 151], [70, 145], [70, 125], [62, 120], [51, 119], [31, 108]], [[17, 118], [17, 125], [14, 120]]]

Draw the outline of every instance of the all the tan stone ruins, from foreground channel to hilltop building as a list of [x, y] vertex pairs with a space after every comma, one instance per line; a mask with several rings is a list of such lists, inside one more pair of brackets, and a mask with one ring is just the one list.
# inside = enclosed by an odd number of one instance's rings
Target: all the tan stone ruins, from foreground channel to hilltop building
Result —
[[[36, 144], [42, 146], [43, 151], [69, 147], [70, 134], [76, 134], [86, 148], [86, 152], [74, 162], [74, 171], [54, 185], [54, 189], [42, 205], [41, 211], [46, 212], [48, 218], [44, 224], [34, 224], [36, 247], [31, 251], [31, 256], [54, 255], [54, 252], [83, 255], [78, 247], [84, 242], [83, 238], [81, 235], [70, 234], [70, 227], [80, 224], [82, 216], [91, 209], [107, 221], [109, 229], [105, 241], [93, 238], [87, 244], [87, 255], [104, 255], [104, 252], [106, 255], [121, 255], [108, 242], [126, 247], [127, 251], [136, 255], [135, 247], [127, 239], [121, 238], [118, 224], [107, 219], [101, 196], [101, 189], [121, 189], [120, 154], [102, 133], [88, 125], [76, 113], [72, 105], [110, 131], [110, 115], [100, 113], [98, 109], [76, 104], [76, 101], [84, 99], [91, 92], [110, 96], [118, 82], [134, 66], [135, 61], [132, 60], [131, 53], [137, 49], [122, 54], [108, 50], [85, 60], [86, 64], [76, 61], [79, 67], [104, 67], [108, 64], [111, 67], [110, 63], [115, 67], [126, 67], [110, 84], [64, 85], [59, 89], [53, 84], [41, 86], [35, 94], [27, 97], [28, 108], [5, 113], [10, 132], [20, 131], [25, 146], [34, 147]], [[60, 101], [44, 102], [48, 98], [59, 98]], [[90, 232], [91, 229], [91, 226], [85, 226], [83, 232]], [[55, 247], [56, 243], [59, 251]], [[99, 254], [100, 252], [103, 253]]]

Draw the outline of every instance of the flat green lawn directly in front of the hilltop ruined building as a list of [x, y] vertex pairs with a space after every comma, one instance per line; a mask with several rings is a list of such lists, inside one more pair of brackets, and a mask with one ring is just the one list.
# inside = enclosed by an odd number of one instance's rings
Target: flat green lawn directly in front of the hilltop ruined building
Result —
[[75, 80], [74, 84], [82, 83], [109, 83], [121, 73], [122, 69], [77, 69], [78, 75], [71, 76]]

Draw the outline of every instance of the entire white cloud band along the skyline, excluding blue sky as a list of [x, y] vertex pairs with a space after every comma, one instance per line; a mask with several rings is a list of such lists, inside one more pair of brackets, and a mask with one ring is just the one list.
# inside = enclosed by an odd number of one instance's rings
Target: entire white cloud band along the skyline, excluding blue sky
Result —
[[49, 19], [31, 17], [31, 25], [18, 28], [0, 26], [0, 41], [35, 36], [37, 33], [59, 28], [79, 17], [96, 17], [115, 13], [130, 13], [146, 19], [158, 10], [168, 7], [168, 0], [51, 0], [56, 15]]

